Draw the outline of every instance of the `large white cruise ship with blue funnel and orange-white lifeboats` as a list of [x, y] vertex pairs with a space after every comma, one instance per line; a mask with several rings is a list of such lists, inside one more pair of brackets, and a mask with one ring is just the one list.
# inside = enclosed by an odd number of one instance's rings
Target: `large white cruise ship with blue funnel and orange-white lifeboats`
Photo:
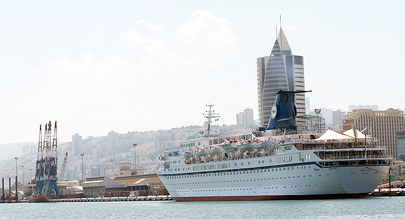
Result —
[[[297, 117], [294, 94], [277, 92], [266, 128], [183, 140], [159, 159], [158, 175], [175, 201], [359, 198], [372, 192], [391, 159], [378, 140], [351, 129], [321, 133], [318, 116]], [[297, 127], [297, 120], [307, 127]], [[300, 123], [301, 124], [301, 123]], [[311, 125], [312, 124], [312, 125]]]

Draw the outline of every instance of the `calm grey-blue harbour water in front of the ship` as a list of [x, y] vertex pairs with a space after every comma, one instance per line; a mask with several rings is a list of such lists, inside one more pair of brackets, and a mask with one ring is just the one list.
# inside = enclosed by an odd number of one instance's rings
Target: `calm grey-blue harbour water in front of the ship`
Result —
[[405, 218], [405, 197], [305, 201], [5, 203], [0, 218]]

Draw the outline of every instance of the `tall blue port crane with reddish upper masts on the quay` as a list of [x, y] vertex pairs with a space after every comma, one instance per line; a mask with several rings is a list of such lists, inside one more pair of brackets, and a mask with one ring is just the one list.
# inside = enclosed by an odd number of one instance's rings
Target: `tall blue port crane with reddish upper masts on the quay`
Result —
[[42, 138], [42, 129], [39, 126], [38, 157], [36, 160], [36, 192], [39, 196], [58, 198], [59, 189], [56, 183], [58, 179], [58, 138], [56, 122], [54, 137], [52, 138], [51, 121], [45, 124], [45, 134]]

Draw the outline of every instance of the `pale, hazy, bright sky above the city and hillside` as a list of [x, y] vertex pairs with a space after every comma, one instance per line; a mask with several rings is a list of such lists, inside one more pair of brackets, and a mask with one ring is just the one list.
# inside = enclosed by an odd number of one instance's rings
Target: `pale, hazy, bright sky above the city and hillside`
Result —
[[0, 144], [257, 118], [280, 26], [311, 108], [405, 108], [405, 1], [1, 1]]

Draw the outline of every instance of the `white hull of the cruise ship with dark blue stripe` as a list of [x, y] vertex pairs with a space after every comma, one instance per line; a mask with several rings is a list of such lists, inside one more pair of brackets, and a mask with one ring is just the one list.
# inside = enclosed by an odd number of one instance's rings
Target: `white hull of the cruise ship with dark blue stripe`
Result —
[[[176, 162], [159, 177], [176, 201], [358, 198], [372, 192], [389, 170], [388, 164], [323, 167], [312, 151], [293, 151], [188, 165]], [[305, 154], [314, 159], [292, 162]]]

